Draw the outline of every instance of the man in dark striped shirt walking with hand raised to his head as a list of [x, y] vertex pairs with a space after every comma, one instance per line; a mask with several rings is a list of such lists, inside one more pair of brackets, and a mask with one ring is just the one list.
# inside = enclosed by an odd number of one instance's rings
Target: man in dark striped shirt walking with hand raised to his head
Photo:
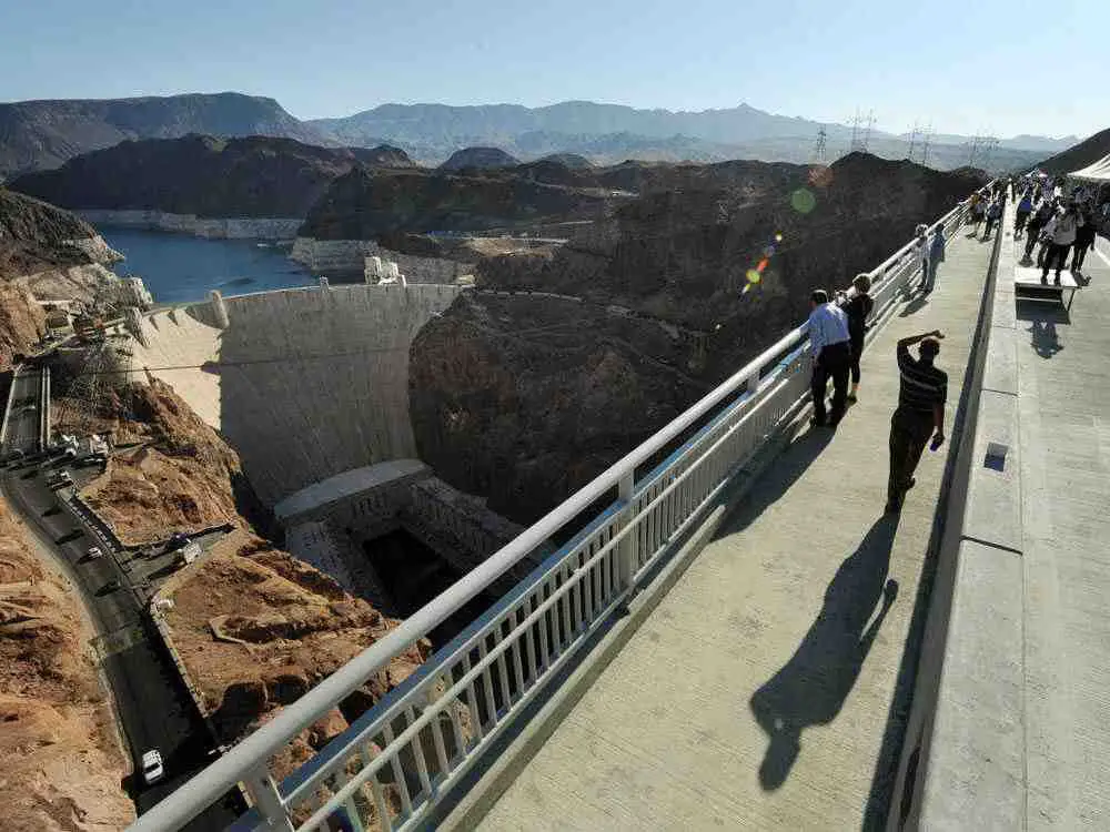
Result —
[[[914, 487], [914, 471], [932, 434], [934, 450], [945, 442], [945, 402], [948, 375], [934, 366], [944, 334], [939, 329], [898, 342], [898, 407], [890, 418], [890, 476], [887, 479], [888, 513], [900, 511], [906, 491]], [[914, 344], [918, 358], [909, 354]]]

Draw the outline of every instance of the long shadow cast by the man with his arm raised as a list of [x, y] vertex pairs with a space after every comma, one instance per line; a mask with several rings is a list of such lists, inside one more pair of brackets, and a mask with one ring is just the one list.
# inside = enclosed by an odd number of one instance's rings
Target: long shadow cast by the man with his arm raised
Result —
[[876, 520], [837, 569], [821, 611], [794, 656], [751, 694], [751, 711], [770, 740], [759, 767], [759, 783], [767, 791], [786, 781], [801, 750], [803, 730], [831, 722], [859, 677], [898, 595], [898, 582], [887, 580], [897, 528], [897, 515]]

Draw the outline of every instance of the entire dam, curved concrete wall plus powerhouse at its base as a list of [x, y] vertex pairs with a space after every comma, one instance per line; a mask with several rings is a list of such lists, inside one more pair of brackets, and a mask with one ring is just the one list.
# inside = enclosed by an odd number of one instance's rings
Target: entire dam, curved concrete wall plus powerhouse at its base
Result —
[[[129, 381], [169, 384], [226, 439], [290, 551], [405, 615], [522, 530], [417, 458], [410, 347], [463, 291], [321, 280], [132, 312]], [[424, 580], [398, 581], [408, 555]]]

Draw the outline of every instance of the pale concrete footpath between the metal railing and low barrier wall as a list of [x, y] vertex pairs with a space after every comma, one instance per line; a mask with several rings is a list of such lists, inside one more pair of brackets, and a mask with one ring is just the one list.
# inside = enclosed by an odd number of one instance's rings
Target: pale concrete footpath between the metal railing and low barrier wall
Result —
[[900, 516], [884, 516], [895, 344], [946, 333], [950, 432], [992, 247], [966, 233], [934, 294], [868, 347], [839, 429], [798, 427], [482, 829], [859, 829], [881, 816], [948, 449], [926, 451]]

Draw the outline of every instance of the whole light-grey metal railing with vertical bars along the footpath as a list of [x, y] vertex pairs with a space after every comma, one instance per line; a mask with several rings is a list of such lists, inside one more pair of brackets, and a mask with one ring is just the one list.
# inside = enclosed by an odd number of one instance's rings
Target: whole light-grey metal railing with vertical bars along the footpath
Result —
[[[951, 232], [966, 203], [941, 217]], [[872, 322], [920, 271], [911, 241], [874, 272]], [[236, 830], [407, 830], [480, 759], [598, 627], [649, 579], [734, 476], [808, 398], [801, 325], [511, 544], [286, 707], [132, 826], [178, 829], [236, 782], [254, 809]], [[677, 447], [676, 447], [677, 446]], [[636, 479], [637, 469], [669, 454]], [[525, 580], [285, 780], [269, 762], [537, 547], [605, 505]]]

